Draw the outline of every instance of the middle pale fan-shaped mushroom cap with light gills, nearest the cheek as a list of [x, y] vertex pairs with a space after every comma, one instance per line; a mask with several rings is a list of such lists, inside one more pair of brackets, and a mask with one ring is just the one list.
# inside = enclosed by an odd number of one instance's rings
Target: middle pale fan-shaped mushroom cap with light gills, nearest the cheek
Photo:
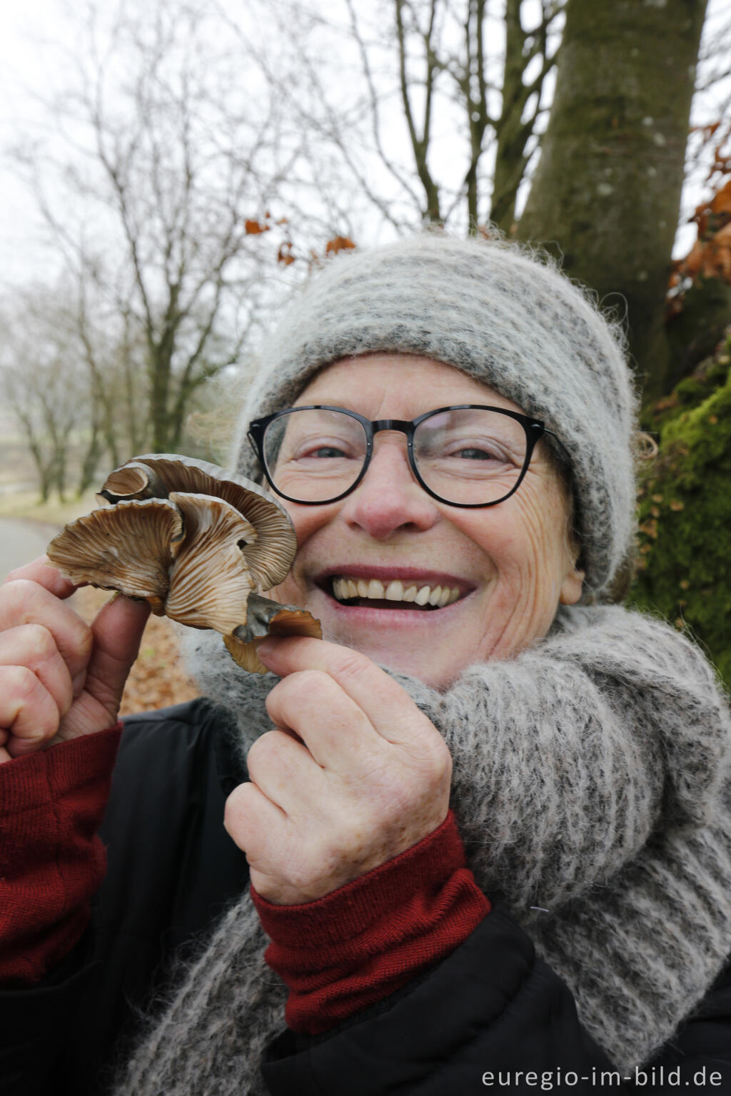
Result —
[[192, 628], [230, 632], [247, 619], [254, 580], [242, 546], [253, 526], [224, 499], [170, 493], [183, 515], [185, 535], [172, 546], [165, 613]]

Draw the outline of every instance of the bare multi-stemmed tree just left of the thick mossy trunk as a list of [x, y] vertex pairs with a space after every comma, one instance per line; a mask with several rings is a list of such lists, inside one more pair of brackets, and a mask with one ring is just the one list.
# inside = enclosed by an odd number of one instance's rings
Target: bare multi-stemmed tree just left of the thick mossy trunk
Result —
[[[352, 0], [349, 2], [353, 33], [358, 36], [355, 9]], [[489, 56], [490, 24], [494, 25], [495, 15], [488, 0], [466, 0], [459, 5], [446, 0], [429, 0], [427, 5], [413, 0], [393, 3], [401, 101], [426, 199], [424, 218], [442, 222], [447, 216], [447, 210], [441, 208], [439, 187], [430, 168], [430, 155], [432, 162], [436, 159], [432, 141], [436, 80], [444, 72], [448, 77], [444, 92], [453, 99], [457, 117], [461, 116], [468, 150], [457, 202], [453, 199], [449, 213], [464, 202], [471, 231], [488, 220], [510, 229], [517, 190], [538, 139], [537, 124], [545, 110], [544, 84], [558, 55], [555, 31], [563, 7], [561, 0], [544, 2], [539, 20], [530, 28], [525, 25], [528, 5], [506, 0], [502, 57]], [[416, 100], [421, 100], [420, 119]], [[484, 160], [491, 145], [494, 169], [490, 189]]]

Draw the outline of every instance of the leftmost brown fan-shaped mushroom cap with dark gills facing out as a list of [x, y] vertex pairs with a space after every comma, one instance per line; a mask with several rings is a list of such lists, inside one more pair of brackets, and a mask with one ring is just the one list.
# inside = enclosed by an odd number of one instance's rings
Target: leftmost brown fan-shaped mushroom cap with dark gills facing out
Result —
[[67, 525], [50, 541], [47, 555], [76, 585], [144, 597], [161, 616], [173, 546], [182, 536], [182, 516], [167, 499], [119, 502]]

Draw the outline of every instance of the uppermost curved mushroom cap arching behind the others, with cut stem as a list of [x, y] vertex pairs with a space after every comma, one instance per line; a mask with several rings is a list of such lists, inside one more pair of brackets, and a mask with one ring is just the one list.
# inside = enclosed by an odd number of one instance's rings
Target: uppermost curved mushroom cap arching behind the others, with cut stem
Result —
[[[145, 479], [147, 477], [147, 479]], [[170, 492], [214, 495], [230, 503], [256, 530], [243, 553], [256, 585], [271, 590], [286, 576], [297, 551], [297, 538], [286, 510], [258, 483], [226, 475], [216, 465], [169, 453], [134, 457], [107, 478], [102, 494], [111, 502], [139, 483], [134, 498], [167, 498]]]

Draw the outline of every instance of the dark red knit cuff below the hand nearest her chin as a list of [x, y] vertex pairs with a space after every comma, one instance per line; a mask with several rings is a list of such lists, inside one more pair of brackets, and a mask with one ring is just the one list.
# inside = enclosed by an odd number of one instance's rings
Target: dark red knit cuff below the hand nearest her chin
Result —
[[412, 848], [300, 905], [252, 899], [272, 938], [266, 961], [286, 982], [286, 1020], [327, 1031], [454, 951], [490, 912], [465, 867], [452, 811]]

